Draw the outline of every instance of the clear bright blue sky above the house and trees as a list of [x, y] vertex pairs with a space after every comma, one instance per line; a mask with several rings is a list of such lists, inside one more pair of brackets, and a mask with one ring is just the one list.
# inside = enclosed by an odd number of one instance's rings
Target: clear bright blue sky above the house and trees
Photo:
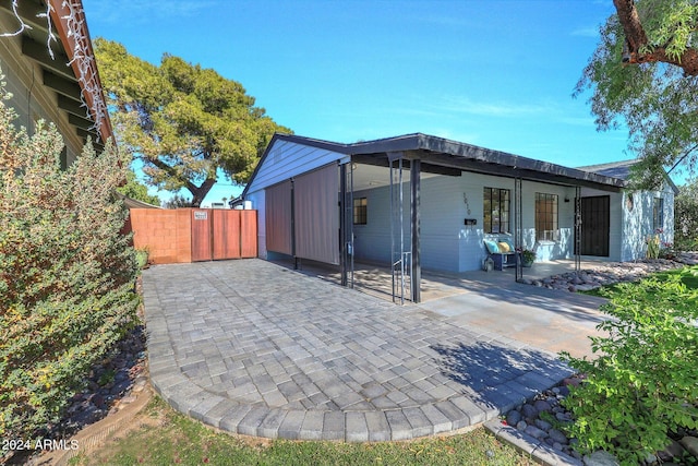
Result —
[[[565, 166], [629, 158], [571, 97], [612, 0], [83, 0], [93, 38], [242, 83], [296, 134], [422, 132]], [[222, 180], [206, 203], [241, 188]], [[160, 193], [161, 198], [168, 194]]]

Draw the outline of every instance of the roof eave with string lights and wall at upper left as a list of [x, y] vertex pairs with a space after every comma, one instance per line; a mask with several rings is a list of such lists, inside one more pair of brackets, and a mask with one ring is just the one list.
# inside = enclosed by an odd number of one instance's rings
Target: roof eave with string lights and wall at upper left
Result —
[[2, 1], [0, 34], [0, 69], [17, 127], [31, 134], [39, 119], [56, 124], [65, 143], [63, 167], [88, 138], [101, 150], [111, 127], [82, 1]]

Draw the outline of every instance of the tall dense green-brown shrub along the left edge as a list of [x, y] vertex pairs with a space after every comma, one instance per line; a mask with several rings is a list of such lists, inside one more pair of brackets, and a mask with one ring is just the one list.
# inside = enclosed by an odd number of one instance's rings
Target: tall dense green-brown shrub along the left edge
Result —
[[[129, 160], [15, 130], [0, 101], [0, 439], [35, 439], [133, 322], [136, 263], [113, 193]], [[120, 168], [122, 167], [122, 168]]]

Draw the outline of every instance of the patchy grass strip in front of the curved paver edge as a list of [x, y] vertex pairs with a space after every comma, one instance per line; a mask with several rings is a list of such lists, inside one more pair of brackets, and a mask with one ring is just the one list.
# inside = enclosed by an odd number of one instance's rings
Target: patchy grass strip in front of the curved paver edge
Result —
[[172, 410], [159, 397], [131, 430], [71, 465], [533, 465], [476, 429], [410, 442], [296, 442], [231, 435]]

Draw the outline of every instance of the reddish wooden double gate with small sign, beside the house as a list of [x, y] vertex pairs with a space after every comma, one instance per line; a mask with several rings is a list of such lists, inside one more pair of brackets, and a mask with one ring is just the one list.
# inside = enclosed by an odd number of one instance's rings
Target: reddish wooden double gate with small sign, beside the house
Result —
[[256, 258], [256, 211], [192, 210], [192, 262]]

